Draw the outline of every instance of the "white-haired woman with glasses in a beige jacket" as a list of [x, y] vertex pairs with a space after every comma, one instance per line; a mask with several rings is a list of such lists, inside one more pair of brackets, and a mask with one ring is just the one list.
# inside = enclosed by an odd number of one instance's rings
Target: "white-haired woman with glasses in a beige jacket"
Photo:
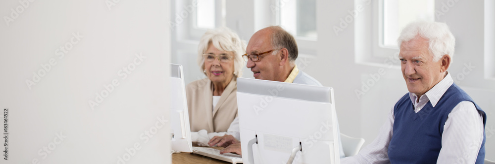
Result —
[[207, 78], [186, 87], [193, 142], [207, 146], [209, 138], [230, 134], [227, 131], [238, 115], [236, 79], [242, 75], [245, 51], [245, 42], [228, 28], [208, 30], [201, 37], [198, 65]]

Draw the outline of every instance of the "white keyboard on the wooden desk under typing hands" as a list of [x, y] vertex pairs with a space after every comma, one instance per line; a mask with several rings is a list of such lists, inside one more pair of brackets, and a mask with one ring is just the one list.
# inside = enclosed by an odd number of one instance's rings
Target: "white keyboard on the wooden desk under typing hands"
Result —
[[202, 156], [226, 161], [232, 164], [238, 164], [238, 163], [243, 163], [243, 159], [241, 155], [234, 154], [234, 153], [225, 153], [225, 154], [220, 154], [220, 150], [210, 148], [210, 147], [195, 147], [193, 146], [193, 153], [199, 154]]

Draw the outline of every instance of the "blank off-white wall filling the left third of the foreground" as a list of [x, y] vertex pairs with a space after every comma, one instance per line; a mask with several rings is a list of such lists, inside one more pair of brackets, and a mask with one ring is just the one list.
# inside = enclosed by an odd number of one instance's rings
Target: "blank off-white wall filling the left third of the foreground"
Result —
[[[9, 121], [1, 163], [170, 163], [170, 128], [155, 124], [169, 116], [168, 1], [29, 1], [0, 2], [2, 18], [21, 12], [0, 22], [0, 107]], [[62, 57], [60, 47], [70, 50]], [[123, 67], [134, 70], [124, 78]], [[151, 129], [148, 142], [140, 138]]]

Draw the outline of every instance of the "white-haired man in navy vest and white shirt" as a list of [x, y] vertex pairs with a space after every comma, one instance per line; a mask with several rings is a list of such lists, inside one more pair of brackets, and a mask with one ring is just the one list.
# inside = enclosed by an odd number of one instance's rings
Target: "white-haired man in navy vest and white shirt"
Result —
[[342, 164], [483, 164], [486, 113], [447, 72], [455, 38], [445, 23], [413, 22], [398, 40], [409, 93], [379, 136]]

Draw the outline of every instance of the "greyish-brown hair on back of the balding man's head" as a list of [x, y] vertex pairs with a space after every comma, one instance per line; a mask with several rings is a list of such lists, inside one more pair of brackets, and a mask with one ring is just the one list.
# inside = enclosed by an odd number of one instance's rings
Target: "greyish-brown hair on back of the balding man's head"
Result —
[[274, 49], [287, 48], [289, 51], [289, 61], [294, 64], [298, 55], [297, 42], [294, 36], [280, 26], [270, 26], [269, 28], [272, 31], [272, 47]]

